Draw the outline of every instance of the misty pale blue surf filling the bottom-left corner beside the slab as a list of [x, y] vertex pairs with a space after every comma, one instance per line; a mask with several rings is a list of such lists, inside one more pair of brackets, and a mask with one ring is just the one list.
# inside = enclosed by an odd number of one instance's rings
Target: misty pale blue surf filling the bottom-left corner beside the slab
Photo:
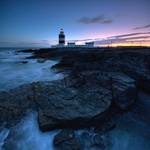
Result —
[[[5, 132], [5, 133], [4, 133]], [[30, 113], [7, 132], [0, 133], [2, 150], [53, 150], [53, 138], [58, 131], [43, 133], [39, 130], [37, 114]], [[7, 137], [8, 135], [8, 137]], [[7, 137], [7, 139], [6, 139]], [[4, 144], [5, 140], [5, 144]]]

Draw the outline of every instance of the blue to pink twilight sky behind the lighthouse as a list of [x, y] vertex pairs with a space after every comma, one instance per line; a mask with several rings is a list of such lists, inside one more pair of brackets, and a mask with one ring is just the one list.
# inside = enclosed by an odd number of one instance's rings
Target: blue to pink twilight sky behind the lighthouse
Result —
[[0, 47], [67, 41], [149, 45], [150, 0], [0, 0]]

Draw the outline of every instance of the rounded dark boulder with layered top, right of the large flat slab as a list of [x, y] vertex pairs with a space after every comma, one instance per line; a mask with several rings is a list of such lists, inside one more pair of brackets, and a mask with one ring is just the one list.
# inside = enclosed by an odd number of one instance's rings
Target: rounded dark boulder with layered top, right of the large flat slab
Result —
[[137, 98], [135, 80], [123, 74], [112, 74], [112, 95], [119, 108], [128, 109]]

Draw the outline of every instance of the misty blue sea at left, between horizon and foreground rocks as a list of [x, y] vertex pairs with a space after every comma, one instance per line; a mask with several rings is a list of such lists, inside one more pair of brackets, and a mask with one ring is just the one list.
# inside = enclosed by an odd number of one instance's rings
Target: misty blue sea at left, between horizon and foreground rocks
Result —
[[[57, 61], [47, 60], [38, 63], [36, 59], [25, 59], [29, 53], [17, 53], [16, 48], [0, 48], [0, 91], [9, 90], [19, 85], [36, 82], [50, 81], [62, 78], [56, 74], [51, 66]], [[27, 61], [27, 63], [23, 63]]]

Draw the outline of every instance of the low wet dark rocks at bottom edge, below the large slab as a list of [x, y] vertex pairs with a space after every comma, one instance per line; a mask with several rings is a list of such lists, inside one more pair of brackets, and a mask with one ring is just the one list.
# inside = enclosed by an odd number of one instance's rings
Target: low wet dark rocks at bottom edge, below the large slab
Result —
[[56, 150], [105, 150], [110, 146], [109, 135], [102, 135], [93, 129], [62, 130], [54, 137]]

